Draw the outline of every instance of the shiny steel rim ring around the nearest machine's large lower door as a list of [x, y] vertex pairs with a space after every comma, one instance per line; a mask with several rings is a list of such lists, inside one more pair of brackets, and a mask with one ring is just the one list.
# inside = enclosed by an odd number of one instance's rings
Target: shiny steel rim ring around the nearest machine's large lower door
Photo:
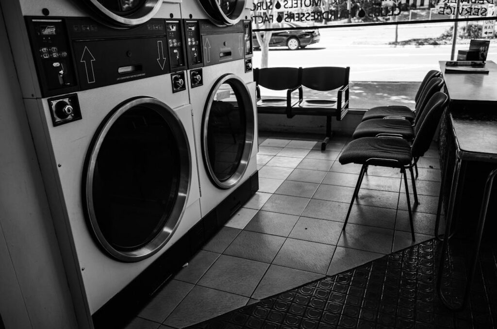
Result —
[[[112, 125], [119, 117], [131, 109], [143, 107], [150, 109], [159, 114], [166, 122], [168, 128], [173, 133], [177, 141], [177, 149], [179, 151], [180, 170], [178, 177], [177, 195], [174, 204], [168, 214], [163, 214], [165, 224], [157, 235], [148, 242], [145, 246], [133, 250], [119, 250], [113, 247], [105, 238], [99, 223], [96, 218], [95, 204], [93, 199], [93, 178], [95, 174], [95, 165], [97, 156], [102, 146], [102, 143], [109, 132]], [[137, 262], [148, 258], [164, 247], [172, 237], [176, 230], [179, 221], [186, 209], [186, 201], [190, 191], [191, 184], [191, 153], [186, 131], [176, 113], [165, 103], [152, 97], [139, 97], [128, 100], [119, 105], [115, 110], [109, 113], [103, 120], [102, 124], [93, 137], [90, 148], [88, 149], [85, 165], [83, 169], [83, 207], [85, 208], [86, 217], [90, 229], [96, 238], [97, 242], [103, 249], [112, 257], [124, 262]], [[160, 165], [160, 164], [158, 164]]]

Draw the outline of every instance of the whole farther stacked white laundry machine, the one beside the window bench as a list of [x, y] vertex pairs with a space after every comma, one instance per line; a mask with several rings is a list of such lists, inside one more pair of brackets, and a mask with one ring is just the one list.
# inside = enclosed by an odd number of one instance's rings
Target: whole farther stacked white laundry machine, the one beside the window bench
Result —
[[251, 7], [181, 3], [204, 227], [224, 224], [258, 189]]

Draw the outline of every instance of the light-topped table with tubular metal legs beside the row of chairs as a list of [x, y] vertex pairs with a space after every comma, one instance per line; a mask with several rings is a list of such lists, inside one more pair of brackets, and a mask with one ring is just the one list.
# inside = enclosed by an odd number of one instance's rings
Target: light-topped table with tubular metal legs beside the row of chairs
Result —
[[[487, 217], [489, 200], [497, 175], [497, 168], [487, 176], [485, 191], [480, 207], [477, 224], [477, 238], [474, 245], [474, 257], [469, 272], [466, 289], [460, 306], [453, 306], [445, 299], [441, 291], [443, 264], [445, 252], [451, 233], [454, 217], [454, 205], [459, 193], [462, 177], [469, 162], [484, 162], [496, 164], [497, 167], [497, 65], [487, 63], [489, 74], [445, 74], [445, 62], [440, 62], [440, 68], [445, 80], [446, 92], [449, 94], [449, 126], [455, 141], [455, 167], [452, 175], [451, 191], [448, 202], [445, 235], [442, 242], [440, 262], [437, 275], [437, 292], [442, 303], [451, 310], [459, 311], [465, 308], [471, 291], [471, 284], [478, 263], [478, 254]], [[471, 107], [471, 108], [470, 108]], [[494, 110], [492, 111], [492, 107]], [[490, 111], [489, 111], [490, 109]], [[448, 148], [447, 148], [448, 150]], [[447, 158], [447, 157], [446, 157]], [[445, 174], [447, 174], [447, 168]], [[442, 180], [438, 209], [436, 215], [435, 235], [438, 236], [438, 224], [443, 199], [443, 188], [446, 177]]]

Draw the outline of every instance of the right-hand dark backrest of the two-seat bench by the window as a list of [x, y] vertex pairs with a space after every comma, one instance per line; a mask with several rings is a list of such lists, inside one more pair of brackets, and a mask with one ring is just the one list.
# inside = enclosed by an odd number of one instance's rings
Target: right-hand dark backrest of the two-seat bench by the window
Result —
[[302, 69], [302, 85], [320, 91], [333, 90], [348, 84], [350, 68], [317, 67]]

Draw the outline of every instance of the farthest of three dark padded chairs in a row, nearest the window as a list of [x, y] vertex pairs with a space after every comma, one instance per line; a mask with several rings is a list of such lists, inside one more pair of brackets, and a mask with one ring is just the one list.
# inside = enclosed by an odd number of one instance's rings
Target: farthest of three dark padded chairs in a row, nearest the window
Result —
[[366, 113], [364, 113], [362, 117], [362, 121], [371, 120], [371, 119], [383, 119], [385, 117], [397, 117], [409, 120], [414, 122], [415, 119], [415, 111], [419, 108], [423, 107], [423, 104], [419, 103], [419, 98], [426, 87], [427, 83], [433, 79], [440, 77], [440, 72], [436, 70], [429, 71], [425, 76], [419, 88], [417, 89], [416, 96], [414, 97], [415, 108], [414, 111], [410, 109], [408, 106], [404, 105], [389, 105], [389, 106], [377, 106], [369, 109]]

